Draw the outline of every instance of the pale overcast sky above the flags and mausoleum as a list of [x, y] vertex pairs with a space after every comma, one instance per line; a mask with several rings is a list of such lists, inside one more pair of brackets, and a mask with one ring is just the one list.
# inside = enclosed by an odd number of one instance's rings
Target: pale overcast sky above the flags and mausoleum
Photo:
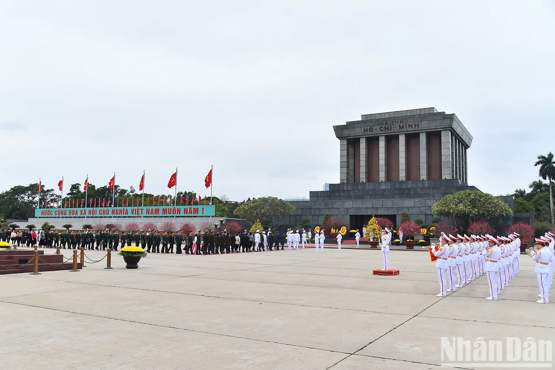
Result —
[[555, 151], [552, 1], [2, 1], [0, 191], [42, 178], [231, 200], [339, 183], [332, 126], [435, 107], [507, 194]]

